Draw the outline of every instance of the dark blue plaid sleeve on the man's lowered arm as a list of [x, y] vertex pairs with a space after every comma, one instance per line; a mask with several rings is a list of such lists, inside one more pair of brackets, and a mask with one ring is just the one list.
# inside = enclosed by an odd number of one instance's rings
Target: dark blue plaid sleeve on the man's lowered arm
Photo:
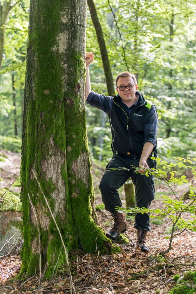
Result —
[[149, 115], [146, 119], [145, 127], [144, 127], [144, 133], [145, 133], [144, 144], [146, 142], [151, 142], [155, 147], [157, 131], [158, 131], [158, 116], [156, 113], [156, 107], [152, 105], [149, 111]]

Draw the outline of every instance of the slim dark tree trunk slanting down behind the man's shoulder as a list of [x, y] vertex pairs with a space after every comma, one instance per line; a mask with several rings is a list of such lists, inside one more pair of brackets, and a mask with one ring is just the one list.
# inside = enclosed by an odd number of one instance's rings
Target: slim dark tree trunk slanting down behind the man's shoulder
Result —
[[99, 48], [100, 48], [102, 62], [103, 62], [103, 69], [104, 69], [105, 78], [106, 78], [108, 95], [114, 96], [115, 92], [114, 92], [113, 77], [112, 77], [112, 72], [111, 72], [109, 57], [108, 57], [108, 51], [107, 51], [105, 40], [103, 37], [103, 31], [101, 28], [101, 24], [99, 22], [97, 11], [96, 11], [95, 4], [94, 4], [93, 0], [87, 0], [87, 3], [88, 3], [89, 10], [90, 10], [91, 18], [93, 21], [93, 25], [94, 25], [94, 28], [96, 31], [97, 40], [99, 43]]

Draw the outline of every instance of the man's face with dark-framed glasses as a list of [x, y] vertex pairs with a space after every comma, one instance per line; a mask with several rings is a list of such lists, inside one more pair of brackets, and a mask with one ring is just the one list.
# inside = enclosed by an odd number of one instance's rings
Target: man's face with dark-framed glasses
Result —
[[[134, 85], [135, 82], [131, 77], [121, 77], [118, 79], [117, 86], [128, 86]], [[133, 87], [132, 90], [128, 90], [125, 88], [124, 91], [120, 91], [120, 89], [116, 87], [116, 91], [118, 92], [120, 98], [122, 98], [125, 102], [131, 101], [135, 97], [135, 92], [137, 91], [137, 85]]]

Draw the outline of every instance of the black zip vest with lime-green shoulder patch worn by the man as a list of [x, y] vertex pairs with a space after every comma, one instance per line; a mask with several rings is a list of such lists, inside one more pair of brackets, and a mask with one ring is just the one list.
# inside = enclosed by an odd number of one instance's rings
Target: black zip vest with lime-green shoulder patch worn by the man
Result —
[[[120, 103], [119, 95], [114, 96], [109, 116], [112, 131], [112, 151], [114, 154], [129, 158], [140, 158], [144, 146], [144, 126], [152, 104], [147, 103], [143, 95], [138, 95], [137, 106], [128, 115]], [[157, 142], [156, 142], [157, 146]], [[156, 146], [151, 156], [157, 157]]]

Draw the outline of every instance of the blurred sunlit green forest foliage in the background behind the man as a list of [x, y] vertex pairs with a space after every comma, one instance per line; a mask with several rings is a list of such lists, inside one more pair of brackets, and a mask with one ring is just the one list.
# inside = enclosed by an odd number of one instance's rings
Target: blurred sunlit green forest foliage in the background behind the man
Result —
[[[196, 156], [195, 4], [195, 1], [187, 0], [95, 1], [114, 83], [121, 71], [135, 73], [138, 90], [156, 105], [158, 150], [162, 158]], [[17, 125], [15, 138], [22, 136], [28, 18], [29, 1], [23, 0], [11, 10], [6, 24], [0, 75], [2, 146], [7, 146], [11, 140], [5, 136], [14, 137], [14, 125]], [[99, 45], [89, 11], [86, 51], [93, 51], [95, 55], [90, 69], [92, 89], [107, 94]], [[16, 106], [13, 106], [13, 99]], [[112, 155], [109, 122], [99, 110], [88, 105], [86, 110], [91, 156], [105, 161]], [[20, 152], [20, 144], [8, 145], [9, 149]]]

